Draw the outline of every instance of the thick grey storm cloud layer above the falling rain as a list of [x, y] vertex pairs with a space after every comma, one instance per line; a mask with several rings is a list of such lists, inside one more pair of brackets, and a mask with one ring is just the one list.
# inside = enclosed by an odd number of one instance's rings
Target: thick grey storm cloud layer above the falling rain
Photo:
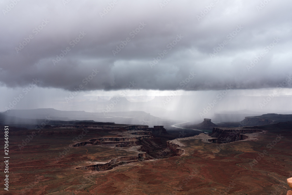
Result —
[[67, 1], [0, 2], [1, 93], [292, 86], [291, 1]]

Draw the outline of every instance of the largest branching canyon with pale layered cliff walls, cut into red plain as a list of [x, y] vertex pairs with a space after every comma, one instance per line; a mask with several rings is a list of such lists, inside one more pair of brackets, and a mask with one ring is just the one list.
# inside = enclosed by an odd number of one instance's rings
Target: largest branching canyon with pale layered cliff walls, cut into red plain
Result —
[[[171, 141], [166, 141], [166, 147], [164, 148], [161, 143], [161, 138], [157, 137], [161, 134], [168, 134], [164, 126], [154, 126], [153, 128], [138, 128], [137, 130], [130, 130], [124, 132], [128, 137], [103, 137], [97, 139], [91, 139], [89, 141], [80, 142], [72, 145], [73, 147], [86, 147], [94, 145], [113, 145], [117, 148], [131, 148], [133, 146], [140, 146], [138, 153], [135, 156], [123, 156], [114, 158], [107, 163], [95, 162], [94, 165], [86, 165], [77, 167], [78, 170], [109, 170], [119, 165], [125, 165], [128, 163], [146, 161], [153, 159], [168, 158], [170, 156], [180, 156], [183, 154], [183, 150], [179, 149], [179, 145], [173, 144]], [[139, 136], [139, 135], [143, 136]], [[162, 156], [161, 156], [162, 154]]]

